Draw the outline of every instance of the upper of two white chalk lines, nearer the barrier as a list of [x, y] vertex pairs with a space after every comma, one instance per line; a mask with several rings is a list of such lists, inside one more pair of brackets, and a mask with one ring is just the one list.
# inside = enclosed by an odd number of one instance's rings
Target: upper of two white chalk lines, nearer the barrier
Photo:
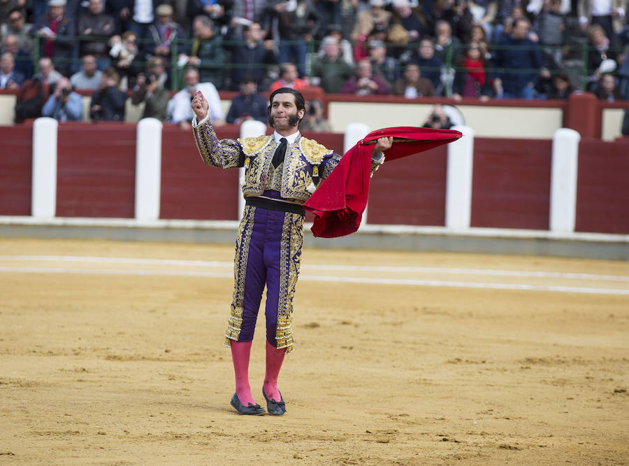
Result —
[[[40, 262], [92, 262], [108, 264], [152, 264], [182, 265], [187, 267], [233, 267], [233, 262], [212, 260], [177, 260], [177, 259], [140, 259], [137, 257], [95, 257], [79, 255], [0, 255], [1, 260], [40, 261]], [[416, 274], [463, 274], [463, 275], [498, 275], [525, 276], [536, 278], [568, 278], [576, 280], [626, 281], [629, 276], [595, 275], [572, 272], [549, 272], [535, 270], [497, 270], [497, 269], [462, 269], [453, 267], [408, 267], [380, 265], [336, 265], [303, 264], [301, 270], [362, 271], [362, 272], [407, 272]]]

